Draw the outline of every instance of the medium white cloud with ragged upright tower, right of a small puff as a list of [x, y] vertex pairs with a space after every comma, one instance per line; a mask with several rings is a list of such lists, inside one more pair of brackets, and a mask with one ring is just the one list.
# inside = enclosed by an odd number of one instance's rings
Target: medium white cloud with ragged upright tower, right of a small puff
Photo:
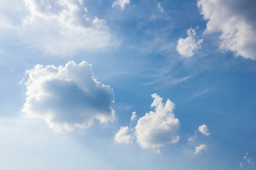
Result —
[[166, 144], [178, 142], [179, 137], [174, 134], [179, 128], [179, 121], [174, 117], [173, 102], [167, 99], [164, 104], [163, 98], [157, 94], [151, 96], [154, 98], [151, 107], [155, 108], [155, 111], [150, 111], [139, 118], [135, 135], [140, 147], [158, 149]]

